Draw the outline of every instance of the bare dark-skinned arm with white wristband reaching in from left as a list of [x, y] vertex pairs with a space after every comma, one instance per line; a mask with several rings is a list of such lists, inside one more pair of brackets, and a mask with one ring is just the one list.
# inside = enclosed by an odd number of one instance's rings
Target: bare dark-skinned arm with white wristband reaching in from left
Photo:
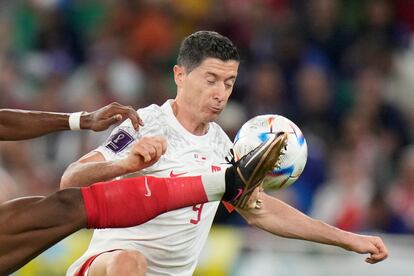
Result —
[[[135, 129], [142, 125], [132, 107], [111, 103], [94, 112], [85, 112], [80, 118], [80, 127], [101, 131], [127, 118], [131, 119]], [[0, 109], [0, 140], [29, 139], [68, 129], [67, 113]]]

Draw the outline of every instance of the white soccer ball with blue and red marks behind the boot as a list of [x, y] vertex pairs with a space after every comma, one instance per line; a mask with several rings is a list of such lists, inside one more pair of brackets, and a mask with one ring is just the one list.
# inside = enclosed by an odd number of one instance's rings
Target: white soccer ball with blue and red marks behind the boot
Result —
[[235, 160], [279, 132], [288, 134], [279, 166], [273, 168], [263, 181], [265, 189], [280, 189], [292, 185], [302, 174], [308, 157], [308, 146], [302, 131], [289, 119], [275, 114], [256, 116], [247, 121], [234, 138]]

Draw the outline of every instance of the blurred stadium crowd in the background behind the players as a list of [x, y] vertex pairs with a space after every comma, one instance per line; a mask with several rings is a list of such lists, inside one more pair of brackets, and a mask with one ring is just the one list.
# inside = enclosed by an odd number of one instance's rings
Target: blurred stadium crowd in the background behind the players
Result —
[[[179, 42], [199, 29], [243, 58], [220, 118], [231, 138], [264, 113], [305, 134], [306, 169], [275, 196], [346, 230], [414, 233], [413, 1], [0, 1], [0, 108], [161, 104], [175, 96]], [[107, 135], [0, 143], [0, 201], [56, 190]]]

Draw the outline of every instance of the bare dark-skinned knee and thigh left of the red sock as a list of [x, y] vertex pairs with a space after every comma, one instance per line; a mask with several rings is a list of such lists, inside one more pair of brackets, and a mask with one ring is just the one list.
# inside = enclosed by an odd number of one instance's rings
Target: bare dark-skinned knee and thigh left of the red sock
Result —
[[79, 189], [0, 205], [0, 275], [11, 273], [86, 225]]

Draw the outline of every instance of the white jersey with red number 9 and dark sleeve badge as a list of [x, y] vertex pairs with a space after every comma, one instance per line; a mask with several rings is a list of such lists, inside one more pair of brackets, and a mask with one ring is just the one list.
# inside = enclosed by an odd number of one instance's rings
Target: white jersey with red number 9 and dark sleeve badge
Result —
[[[216, 123], [210, 123], [203, 136], [191, 134], [174, 116], [171, 100], [161, 107], [150, 105], [138, 113], [145, 123], [138, 133], [128, 121], [97, 149], [106, 160], [125, 158], [142, 136], [162, 135], [168, 143], [166, 153], [140, 174], [170, 177], [224, 170], [224, 157], [232, 144]], [[67, 275], [74, 275], [89, 257], [112, 249], [140, 251], [148, 261], [146, 275], [192, 275], [218, 205], [219, 202], [209, 202], [170, 211], [135, 227], [95, 230], [88, 250]]]

